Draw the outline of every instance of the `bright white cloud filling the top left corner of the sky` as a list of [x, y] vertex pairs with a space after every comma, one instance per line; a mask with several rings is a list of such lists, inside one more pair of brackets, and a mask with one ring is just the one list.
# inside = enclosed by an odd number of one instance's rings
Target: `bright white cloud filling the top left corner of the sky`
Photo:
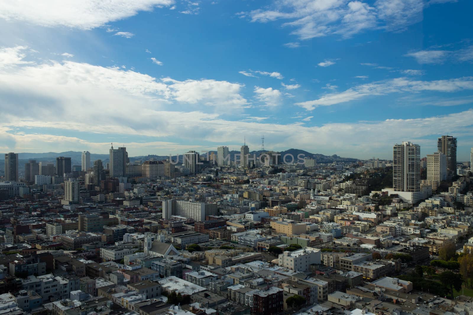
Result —
[[0, 0], [0, 18], [48, 27], [92, 29], [173, 3], [174, 0], [41, 0], [26, 4]]

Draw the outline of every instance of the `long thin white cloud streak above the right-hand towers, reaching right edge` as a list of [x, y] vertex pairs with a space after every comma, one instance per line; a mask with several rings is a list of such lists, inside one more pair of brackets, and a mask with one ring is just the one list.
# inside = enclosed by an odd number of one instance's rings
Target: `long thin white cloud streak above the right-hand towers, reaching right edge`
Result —
[[330, 106], [350, 102], [365, 96], [385, 95], [399, 92], [456, 92], [473, 89], [473, 77], [437, 81], [412, 81], [406, 78], [390, 79], [351, 87], [340, 93], [330, 93], [313, 101], [299, 102], [295, 105], [307, 110], [318, 106]]

